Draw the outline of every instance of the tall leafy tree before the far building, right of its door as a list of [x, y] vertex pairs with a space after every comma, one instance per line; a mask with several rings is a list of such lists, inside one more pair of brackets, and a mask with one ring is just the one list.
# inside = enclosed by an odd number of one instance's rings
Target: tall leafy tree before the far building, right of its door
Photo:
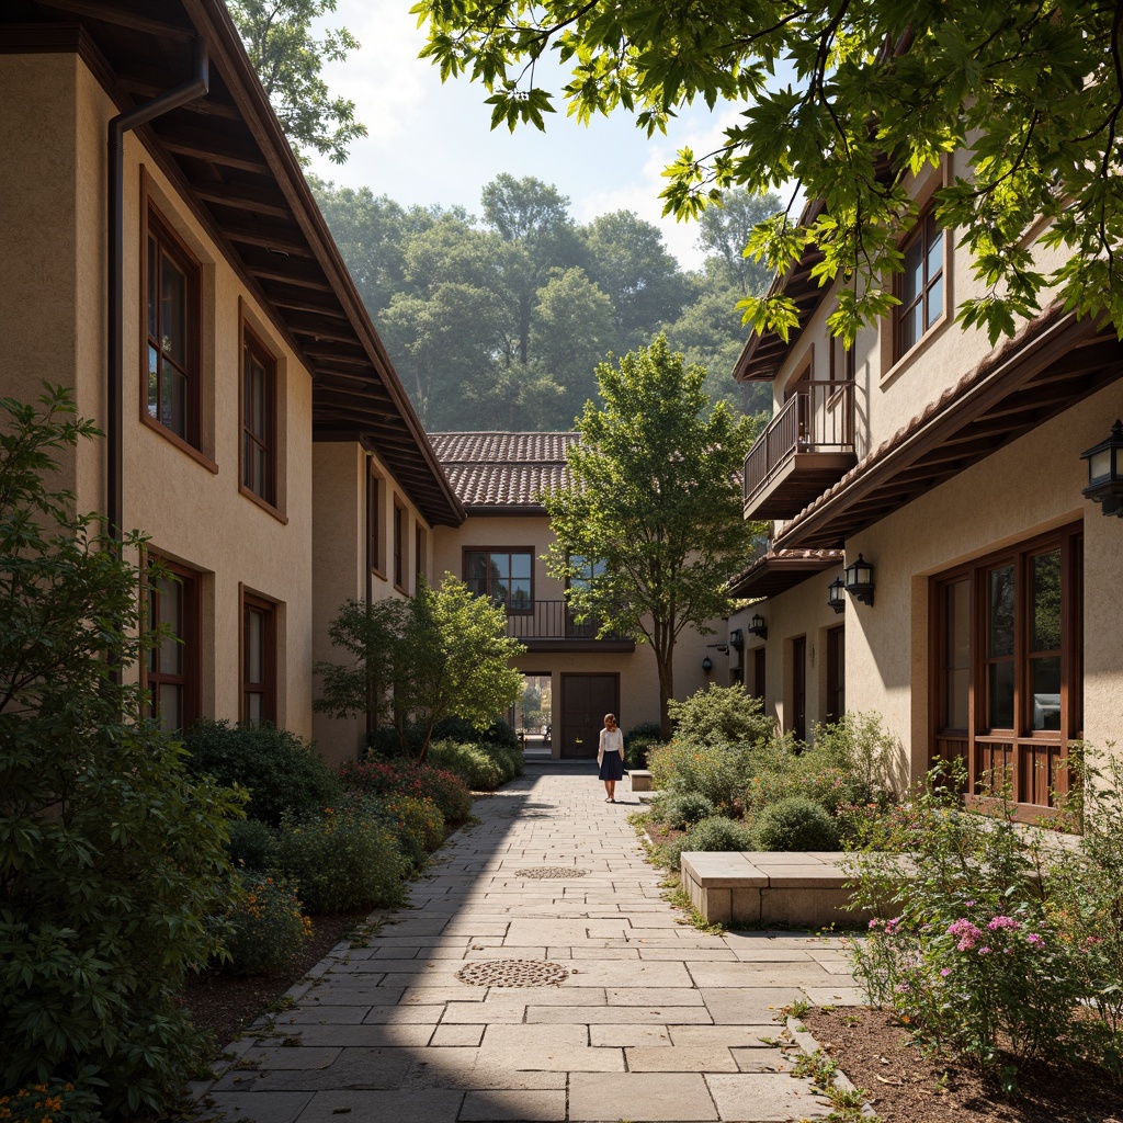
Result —
[[544, 496], [556, 536], [547, 567], [578, 619], [651, 645], [667, 737], [678, 636], [728, 612], [725, 581], [751, 542], [738, 474], [754, 426], [723, 402], [711, 409], [705, 371], [664, 336], [596, 375], [601, 404], [577, 421], [569, 486]]

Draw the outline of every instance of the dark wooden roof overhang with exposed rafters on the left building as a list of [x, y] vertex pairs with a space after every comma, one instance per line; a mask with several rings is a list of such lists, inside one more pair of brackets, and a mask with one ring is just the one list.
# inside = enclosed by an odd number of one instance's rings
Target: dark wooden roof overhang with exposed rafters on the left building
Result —
[[464, 510], [221, 0], [0, 3], [0, 53], [73, 52], [122, 112], [189, 77], [198, 37], [207, 97], [137, 135], [311, 372], [313, 438], [375, 448], [430, 524], [458, 526]]

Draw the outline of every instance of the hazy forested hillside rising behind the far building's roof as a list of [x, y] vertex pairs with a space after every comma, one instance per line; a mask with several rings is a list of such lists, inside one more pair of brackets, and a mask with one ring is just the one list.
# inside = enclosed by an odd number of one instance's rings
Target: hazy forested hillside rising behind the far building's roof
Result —
[[772, 280], [741, 247], [780, 210], [729, 192], [699, 222], [703, 267], [684, 271], [658, 227], [629, 211], [578, 225], [540, 180], [499, 175], [478, 216], [403, 207], [311, 177], [358, 292], [426, 429], [573, 428], [595, 367], [658, 332], [705, 367], [705, 390], [737, 413], [770, 411], [770, 387], [739, 385], [748, 337], [736, 305]]

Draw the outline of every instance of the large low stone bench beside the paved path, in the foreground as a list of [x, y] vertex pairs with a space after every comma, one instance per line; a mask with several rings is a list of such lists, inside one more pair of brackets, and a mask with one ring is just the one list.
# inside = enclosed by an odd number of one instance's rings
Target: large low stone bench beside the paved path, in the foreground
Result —
[[683, 889], [710, 923], [856, 928], [869, 917], [846, 907], [850, 891], [841, 858], [834, 851], [686, 851]]

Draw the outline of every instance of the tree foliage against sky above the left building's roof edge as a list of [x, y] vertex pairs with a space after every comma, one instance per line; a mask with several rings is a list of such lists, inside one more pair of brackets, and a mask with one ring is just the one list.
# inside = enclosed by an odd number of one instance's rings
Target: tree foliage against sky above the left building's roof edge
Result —
[[336, 0], [227, 0], [249, 61], [298, 156], [311, 148], [334, 164], [347, 162], [347, 146], [366, 136], [355, 102], [332, 98], [320, 76], [325, 62], [344, 62], [359, 44], [346, 27], [313, 39], [311, 25], [336, 10]]

